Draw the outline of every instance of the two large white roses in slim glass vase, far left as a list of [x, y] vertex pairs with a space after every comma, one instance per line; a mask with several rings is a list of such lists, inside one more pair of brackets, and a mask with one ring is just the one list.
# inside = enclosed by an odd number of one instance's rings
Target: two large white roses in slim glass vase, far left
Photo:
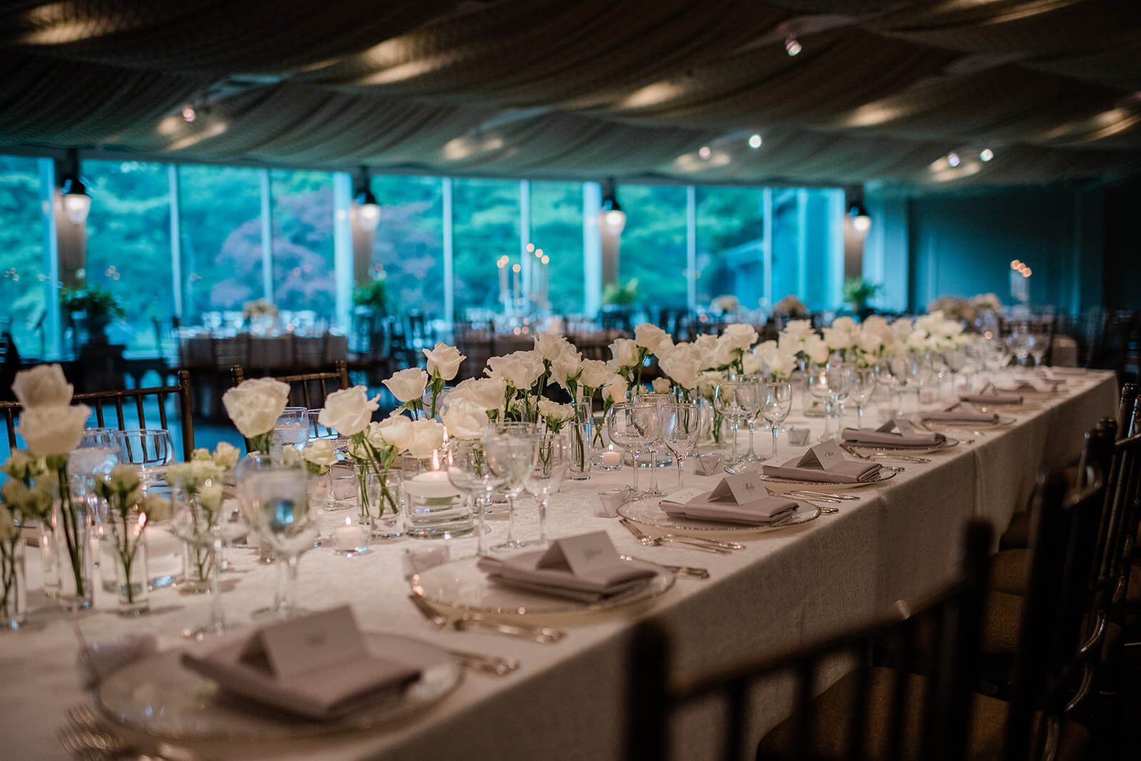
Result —
[[63, 597], [75, 607], [90, 607], [92, 589], [87, 509], [80, 500], [72, 499], [67, 455], [82, 441], [83, 426], [91, 409], [71, 403], [73, 388], [58, 365], [21, 370], [11, 390], [24, 407], [17, 432], [27, 443], [27, 451], [43, 458], [46, 469], [55, 477], [51, 523], [62, 530], [73, 582], [71, 594]]

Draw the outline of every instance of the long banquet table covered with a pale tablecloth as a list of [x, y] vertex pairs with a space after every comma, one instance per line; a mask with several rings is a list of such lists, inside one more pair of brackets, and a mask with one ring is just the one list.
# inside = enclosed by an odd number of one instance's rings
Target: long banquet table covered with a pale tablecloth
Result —
[[[638, 545], [616, 521], [594, 517], [596, 491], [626, 483], [629, 469], [567, 482], [551, 500], [550, 534], [606, 530], [622, 553], [662, 563], [702, 565], [706, 581], [678, 579], [673, 589], [641, 607], [568, 624], [555, 645], [531, 644], [494, 633], [437, 631], [405, 599], [400, 570], [415, 540], [374, 545], [362, 557], [343, 558], [321, 548], [301, 562], [300, 598], [310, 607], [351, 604], [363, 629], [398, 632], [445, 647], [513, 656], [521, 668], [505, 678], [468, 674], [444, 701], [399, 727], [256, 747], [203, 746], [201, 758], [276, 759], [617, 759], [624, 733], [624, 669], [632, 624], [653, 616], [670, 633], [674, 669], [694, 674], [735, 658], [772, 654], [827, 632], [865, 622], [893, 603], [932, 590], [955, 568], [966, 518], [988, 518], [1001, 533], [1030, 493], [1041, 465], [1073, 460], [1082, 434], [1112, 415], [1117, 384], [1109, 373], [1090, 371], [1069, 380], [1068, 391], [1045, 398], [1041, 408], [1019, 412], [1013, 425], [974, 443], [931, 455], [929, 465], [905, 464], [890, 482], [852, 490], [858, 501], [839, 514], [760, 534], [728, 556]], [[809, 426], [819, 419], [790, 423]], [[853, 417], [853, 416], [849, 416]], [[872, 418], [876, 415], [872, 411]], [[848, 420], [852, 425], [852, 420]], [[768, 451], [768, 434], [758, 434]], [[786, 448], [779, 459], [803, 448]], [[673, 484], [672, 469], [659, 472]], [[714, 477], [688, 475], [687, 485], [712, 488]], [[502, 532], [502, 524], [495, 524]], [[497, 535], [497, 534], [495, 534]], [[452, 557], [474, 554], [475, 540], [452, 540]], [[34, 553], [32, 554], [34, 555]], [[230, 617], [267, 604], [273, 568], [253, 562], [250, 550], [233, 553], [234, 584], [225, 603]], [[35, 558], [31, 587], [38, 586]], [[11, 759], [66, 758], [55, 734], [67, 706], [82, 702], [75, 669], [76, 640], [70, 620], [33, 591], [33, 625], [0, 636], [0, 731]], [[204, 620], [209, 600], [167, 589], [152, 594], [152, 612], [121, 619], [108, 596], [96, 611], [75, 616], [89, 640], [127, 632], [151, 632], [162, 646], [181, 646], [184, 627]], [[249, 628], [246, 628], [249, 630]], [[832, 674], [833, 678], [839, 673]], [[750, 731], [759, 737], [788, 712], [780, 686], [759, 695]], [[697, 706], [679, 718], [679, 758], [710, 758], [719, 723], [715, 706]]]

